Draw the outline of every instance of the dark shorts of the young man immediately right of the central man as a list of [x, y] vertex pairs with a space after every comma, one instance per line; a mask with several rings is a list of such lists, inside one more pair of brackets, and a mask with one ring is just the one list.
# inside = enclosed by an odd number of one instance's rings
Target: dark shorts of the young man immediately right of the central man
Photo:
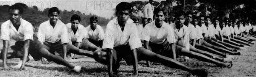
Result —
[[178, 57], [180, 51], [177, 49], [176, 44], [169, 44], [167, 40], [164, 41], [162, 44], [154, 44], [149, 42], [148, 46], [150, 47], [149, 50], [151, 50], [152, 52], [155, 52], [159, 55], [163, 55], [166, 57], [171, 57], [173, 48], [175, 48], [176, 57]]

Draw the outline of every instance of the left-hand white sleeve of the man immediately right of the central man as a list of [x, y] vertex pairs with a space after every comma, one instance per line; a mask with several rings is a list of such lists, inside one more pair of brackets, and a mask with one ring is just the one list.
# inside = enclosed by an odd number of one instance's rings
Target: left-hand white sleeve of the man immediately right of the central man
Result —
[[144, 40], [145, 41], [149, 41], [150, 40], [150, 26], [151, 25], [146, 25], [145, 27], [144, 27], [144, 29], [143, 29], [143, 31], [142, 31], [142, 35], [144, 36]]

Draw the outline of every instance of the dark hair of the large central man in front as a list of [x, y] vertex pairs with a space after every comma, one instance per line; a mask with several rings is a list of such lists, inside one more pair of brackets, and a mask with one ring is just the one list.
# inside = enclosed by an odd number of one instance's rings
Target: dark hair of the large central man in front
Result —
[[126, 10], [128, 10], [129, 14], [131, 14], [131, 12], [132, 12], [131, 7], [132, 7], [131, 3], [127, 3], [127, 2], [121, 2], [121, 3], [117, 4], [116, 5], [116, 16], [119, 11], [126, 11]]

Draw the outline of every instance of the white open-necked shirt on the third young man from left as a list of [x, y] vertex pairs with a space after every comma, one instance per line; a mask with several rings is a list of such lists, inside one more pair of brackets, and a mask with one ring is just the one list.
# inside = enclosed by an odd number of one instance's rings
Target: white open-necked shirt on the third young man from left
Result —
[[71, 23], [67, 23], [67, 33], [69, 34], [69, 39], [74, 42], [82, 42], [83, 38], [88, 38], [88, 33], [87, 30], [85, 29], [85, 27], [81, 24], [78, 25], [78, 29], [76, 31], [76, 34], [73, 32], [72, 27], [71, 27]]

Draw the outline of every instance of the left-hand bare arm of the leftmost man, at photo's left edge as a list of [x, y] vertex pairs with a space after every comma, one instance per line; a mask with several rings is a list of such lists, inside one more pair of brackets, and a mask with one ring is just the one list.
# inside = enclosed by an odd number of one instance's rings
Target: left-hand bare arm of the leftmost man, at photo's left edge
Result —
[[2, 52], [2, 58], [3, 58], [3, 69], [10, 69], [9, 66], [7, 66], [7, 53], [8, 53], [8, 47], [9, 47], [9, 41], [3, 40], [3, 52]]

